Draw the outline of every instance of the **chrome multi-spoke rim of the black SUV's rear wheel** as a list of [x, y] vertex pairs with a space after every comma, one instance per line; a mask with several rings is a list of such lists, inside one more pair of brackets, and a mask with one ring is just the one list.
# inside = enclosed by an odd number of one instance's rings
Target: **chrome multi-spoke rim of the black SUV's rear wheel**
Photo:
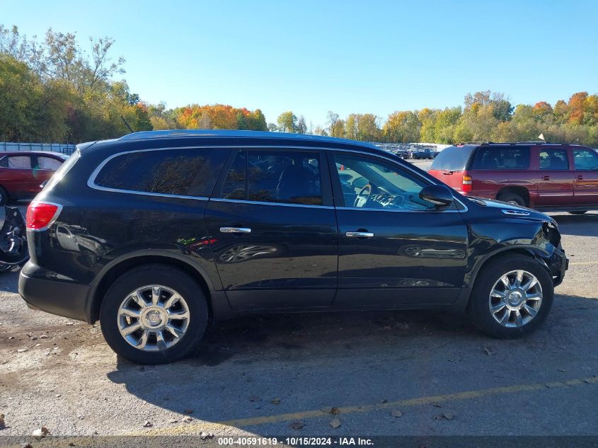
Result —
[[189, 328], [189, 319], [189, 306], [178, 292], [162, 285], [147, 285], [122, 301], [117, 325], [134, 348], [156, 352], [178, 343]]

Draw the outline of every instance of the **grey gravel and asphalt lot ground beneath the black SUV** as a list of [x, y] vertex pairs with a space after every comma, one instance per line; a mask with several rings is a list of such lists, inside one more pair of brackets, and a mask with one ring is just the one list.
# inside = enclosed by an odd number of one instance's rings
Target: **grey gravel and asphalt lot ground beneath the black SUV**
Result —
[[598, 435], [598, 213], [553, 216], [570, 270], [522, 340], [425, 311], [252, 316], [139, 367], [2, 274], [0, 435]]

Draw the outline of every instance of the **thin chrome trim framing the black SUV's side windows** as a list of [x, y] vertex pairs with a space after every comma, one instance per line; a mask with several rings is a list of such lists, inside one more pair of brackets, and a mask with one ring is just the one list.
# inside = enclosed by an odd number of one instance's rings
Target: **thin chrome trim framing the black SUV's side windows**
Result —
[[[226, 201], [226, 202], [247, 202], [250, 204], [262, 204], [262, 205], [286, 205], [286, 206], [291, 206], [291, 207], [318, 207], [318, 208], [328, 208], [328, 209], [333, 209], [335, 207], [330, 207], [328, 205], [301, 205], [301, 204], [287, 204], [287, 203], [283, 203], [283, 202], [258, 202], [258, 201], [245, 201], [245, 200], [232, 200], [232, 199], [224, 199], [224, 198], [220, 198], [220, 197], [204, 197], [204, 196], [185, 196], [185, 195], [169, 195], [166, 193], [149, 193], [149, 192], [143, 192], [143, 191], [135, 191], [135, 190], [122, 190], [120, 188], [108, 188], [108, 187], [103, 187], [101, 185], [97, 185], [96, 184], [96, 178], [98, 177], [98, 174], [100, 173], [100, 171], [102, 170], [102, 168], [106, 165], [106, 163], [108, 163], [109, 161], [111, 161], [112, 159], [115, 159], [115, 157], [117, 156], [122, 156], [125, 154], [132, 154], [134, 152], [146, 152], [146, 151], [168, 151], [168, 150], [173, 150], [173, 149], [202, 149], [202, 148], [212, 148], [212, 149], [268, 149], [267, 146], [263, 145], [263, 144], [257, 144], [257, 145], [251, 145], [251, 144], [242, 144], [242, 145], [213, 145], [213, 144], [209, 144], [209, 145], [193, 145], [193, 146], [185, 146], [185, 147], [165, 147], [165, 148], [149, 148], [149, 149], [132, 149], [130, 151], [121, 151], [121, 152], [117, 152], [116, 154], [112, 154], [111, 156], [108, 156], [108, 158], [104, 159], [104, 161], [102, 163], [100, 163], [95, 170], [93, 170], [93, 172], [91, 173], [91, 175], [89, 176], [88, 180], [87, 180], [87, 186], [89, 188], [93, 188], [95, 190], [102, 190], [102, 191], [109, 191], [112, 193], [129, 193], [132, 195], [142, 195], [142, 196], [158, 196], [158, 197], [175, 197], [175, 198], [180, 198], [180, 199], [195, 199], [195, 200], [214, 200], [214, 201]], [[311, 150], [311, 151], [339, 151], [339, 152], [350, 152], [350, 153], [355, 153], [355, 154], [363, 154], [365, 156], [373, 156], [375, 157], [379, 157], [380, 159], [384, 159], [393, 163], [398, 163], [395, 159], [392, 159], [391, 157], [387, 157], [384, 154], [375, 154], [375, 153], [371, 153], [368, 151], [360, 151], [357, 149], [338, 149], [338, 148], [330, 148], [330, 147], [301, 147], [301, 146], [297, 146], [297, 145], [284, 145], [281, 144], [280, 147], [272, 147], [272, 150], [276, 150], [276, 149], [302, 149], [302, 150]], [[383, 151], [382, 149], [376, 148], [376, 147], [372, 147], [372, 149], [376, 149], [377, 151]], [[408, 162], [407, 162], [408, 163]], [[400, 163], [398, 163], [400, 164]], [[413, 168], [411, 168], [410, 166], [401, 166], [402, 168], [405, 168], [408, 171], [411, 171], [413, 174], [415, 174], [415, 176], [417, 176], [418, 178], [424, 180], [426, 183], [430, 182], [430, 179], [425, 178], [424, 176], [422, 176], [420, 173], [418, 173], [417, 171], [415, 171]], [[467, 205], [464, 204], [464, 202], [461, 202], [461, 200], [457, 199], [455, 197], [455, 201], [459, 202], [459, 204], [461, 204], [461, 206], [463, 207], [462, 210], [456, 209], [456, 210], [440, 210], [440, 211], [436, 211], [437, 213], [450, 213], [450, 212], [467, 212], [469, 210], [469, 208], [467, 207]], [[353, 209], [352, 207], [336, 207], [336, 208], [343, 208], [343, 209]], [[363, 208], [361, 209], [356, 209], [356, 210], [364, 210]], [[411, 211], [418, 211], [418, 210], [385, 210], [385, 209], [368, 209], [368, 210], [376, 210], [376, 211], [386, 211], [386, 212], [411, 212]], [[430, 210], [420, 210], [420, 212], [430, 212]], [[434, 210], [432, 210], [432, 212], [434, 212]]]

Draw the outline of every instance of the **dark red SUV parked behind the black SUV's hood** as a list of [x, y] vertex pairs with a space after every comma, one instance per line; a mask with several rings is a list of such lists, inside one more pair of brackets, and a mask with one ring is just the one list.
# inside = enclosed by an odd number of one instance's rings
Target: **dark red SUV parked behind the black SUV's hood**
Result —
[[458, 144], [442, 150], [429, 173], [466, 196], [542, 211], [598, 209], [598, 152], [578, 145]]

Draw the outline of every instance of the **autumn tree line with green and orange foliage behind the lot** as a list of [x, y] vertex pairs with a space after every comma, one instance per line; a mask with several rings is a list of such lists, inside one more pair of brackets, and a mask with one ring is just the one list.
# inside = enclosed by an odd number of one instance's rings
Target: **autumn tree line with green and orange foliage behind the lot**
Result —
[[[190, 104], [167, 109], [132, 93], [125, 59], [111, 54], [112, 38], [89, 38], [52, 28], [27, 38], [0, 24], [0, 140], [79, 143], [133, 131], [233, 129], [298, 132], [368, 142], [512, 142], [537, 139], [598, 147], [598, 95], [574, 93], [554, 105], [512, 105], [502, 93], [468, 93], [452, 108], [398, 110], [383, 120], [372, 113], [345, 118], [329, 111], [324, 125], [291, 110], [268, 123], [260, 109]], [[123, 121], [122, 118], [125, 120]]]

